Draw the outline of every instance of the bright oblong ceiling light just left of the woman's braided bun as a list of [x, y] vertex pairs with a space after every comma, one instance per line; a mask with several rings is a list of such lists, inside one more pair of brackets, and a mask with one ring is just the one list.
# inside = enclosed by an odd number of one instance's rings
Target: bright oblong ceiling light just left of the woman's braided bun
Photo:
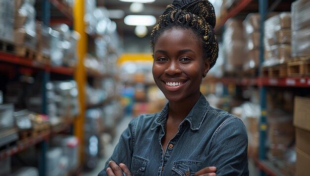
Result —
[[156, 18], [152, 15], [127, 15], [124, 22], [131, 26], [153, 26], [156, 24]]

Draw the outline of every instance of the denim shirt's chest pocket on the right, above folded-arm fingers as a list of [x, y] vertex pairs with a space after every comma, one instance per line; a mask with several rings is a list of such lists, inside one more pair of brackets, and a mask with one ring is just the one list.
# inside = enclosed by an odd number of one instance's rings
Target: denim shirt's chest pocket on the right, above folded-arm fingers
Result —
[[173, 163], [171, 176], [194, 176], [201, 165], [202, 162], [176, 161]]

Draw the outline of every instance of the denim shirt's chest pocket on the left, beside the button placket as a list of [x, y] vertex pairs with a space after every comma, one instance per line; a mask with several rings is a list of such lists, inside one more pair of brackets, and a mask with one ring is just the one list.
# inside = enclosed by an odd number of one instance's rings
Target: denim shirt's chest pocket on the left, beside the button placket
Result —
[[131, 161], [131, 174], [144, 176], [149, 160], [133, 155]]

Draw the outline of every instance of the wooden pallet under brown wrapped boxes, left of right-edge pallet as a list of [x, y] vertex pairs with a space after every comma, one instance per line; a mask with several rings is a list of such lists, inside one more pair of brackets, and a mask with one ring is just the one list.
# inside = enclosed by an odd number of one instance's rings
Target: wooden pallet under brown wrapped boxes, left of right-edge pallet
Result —
[[286, 77], [287, 63], [262, 67], [262, 75], [264, 77]]

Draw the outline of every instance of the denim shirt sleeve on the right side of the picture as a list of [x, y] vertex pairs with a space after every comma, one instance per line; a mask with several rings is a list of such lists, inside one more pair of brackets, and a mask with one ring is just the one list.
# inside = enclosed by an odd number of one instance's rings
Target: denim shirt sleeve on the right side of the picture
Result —
[[245, 125], [239, 118], [226, 119], [213, 134], [207, 166], [217, 168], [216, 176], [248, 176], [247, 156]]

